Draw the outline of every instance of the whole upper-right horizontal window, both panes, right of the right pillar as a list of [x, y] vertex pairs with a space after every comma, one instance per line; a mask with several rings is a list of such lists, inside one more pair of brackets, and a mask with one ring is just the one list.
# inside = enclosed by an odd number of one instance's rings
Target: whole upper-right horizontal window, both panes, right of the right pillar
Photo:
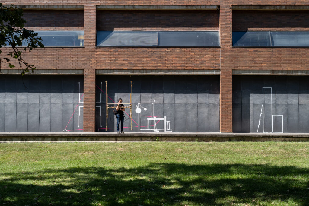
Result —
[[309, 47], [309, 32], [232, 32], [233, 47]]

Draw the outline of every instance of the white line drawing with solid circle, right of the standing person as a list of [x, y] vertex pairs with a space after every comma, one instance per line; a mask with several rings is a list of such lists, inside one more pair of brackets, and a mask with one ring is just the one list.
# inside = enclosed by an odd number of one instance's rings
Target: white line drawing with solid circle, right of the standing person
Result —
[[[156, 102], [155, 99], [150, 99], [149, 102], [138, 102], [135, 109], [135, 112], [138, 113], [138, 132], [173, 132], [173, 130], [170, 129], [170, 121], [166, 121], [166, 116], [155, 116], [154, 104], [158, 103], [159, 102]], [[143, 107], [141, 104], [151, 104], [151, 118], [147, 118], [147, 129], [141, 129], [141, 107], [144, 111], [147, 111], [147, 108]], [[163, 128], [157, 128], [157, 124], [160, 120], [164, 122]], [[154, 126], [154, 128], [152, 128], [152, 126]]]

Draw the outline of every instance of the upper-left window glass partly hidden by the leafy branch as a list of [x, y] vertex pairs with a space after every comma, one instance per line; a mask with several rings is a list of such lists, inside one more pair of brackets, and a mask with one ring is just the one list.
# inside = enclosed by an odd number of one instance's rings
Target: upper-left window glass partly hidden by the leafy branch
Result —
[[[44, 31], [35, 32], [38, 37], [42, 38], [44, 46], [84, 46], [84, 32], [83, 31]], [[24, 45], [28, 45], [25, 41]]]

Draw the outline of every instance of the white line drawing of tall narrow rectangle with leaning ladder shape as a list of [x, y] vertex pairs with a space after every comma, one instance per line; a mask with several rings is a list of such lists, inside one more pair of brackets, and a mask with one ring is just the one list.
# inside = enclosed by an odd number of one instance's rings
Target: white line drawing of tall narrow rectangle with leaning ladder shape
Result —
[[[269, 90], [270, 91], [270, 96], [267, 92]], [[266, 93], [266, 94], [265, 94]], [[266, 110], [266, 104], [267, 105], [270, 105], [270, 111], [269, 111], [269, 107], [268, 109]], [[268, 112], [270, 112], [270, 115], [268, 114]], [[271, 122], [271, 132], [283, 132], [283, 115], [276, 115], [276, 114], [273, 114], [273, 88], [272, 87], [262, 87], [262, 107], [261, 107], [261, 112], [260, 112], [260, 119], [259, 119], [259, 124], [257, 126], [257, 132], [259, 132], [259, 128], [260, 128], [260, 124], [261, 124], [261, 117], [262, 117], [262, 121], [263, 121], [263, 124], [262, 124], [262, 130], [264, 133], [267, 133], [265, 132], [265, 129], [264, 129], [264, 123], [268, 122], [269, 119], [270, 119], [270, 122]], [[281, 117], [281, 126], [282, 126], [282, 130], [281, 131], [274, 131], [274, 117], [277, 118], [277, 117]]]

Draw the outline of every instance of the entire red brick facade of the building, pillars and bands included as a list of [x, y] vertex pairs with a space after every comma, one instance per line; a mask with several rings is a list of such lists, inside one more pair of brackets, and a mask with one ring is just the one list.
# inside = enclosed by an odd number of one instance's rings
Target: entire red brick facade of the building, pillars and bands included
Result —
[[[308, 48], [233, 48], [233, 31], [309, 31], [308, 1], [14, 0], [16, 5], [84, 5], [84, 10], [25, 10], [33, 30], [84, 30], [84, 48], [35, 49], [37, 69], [84, 70], [84, 132], [95, 128], [95, 69], [220, 69], [220, 131], [232, 132], [232, 70], [307, 70]], [[218, 6], [219, 10], [96, 10], [97, 5]], [[233, 10], [233, 6], [264, 6]], [[285, 6], [276, 11], [270, 6]], [[289, 7], [290, 6], [290, 7]], [[151, 7], [150, 7], [151, 9]], [[303, 9], [299, 7], [298, 9]], [[307, 7], [305, 8], [307, 9]], [[47, 19], [47, 21], [43, 21]], [[220, 48], [96, 48], [96, 30], [219, 30]], [[6, 52], [6, 51], [3, 51]]]

